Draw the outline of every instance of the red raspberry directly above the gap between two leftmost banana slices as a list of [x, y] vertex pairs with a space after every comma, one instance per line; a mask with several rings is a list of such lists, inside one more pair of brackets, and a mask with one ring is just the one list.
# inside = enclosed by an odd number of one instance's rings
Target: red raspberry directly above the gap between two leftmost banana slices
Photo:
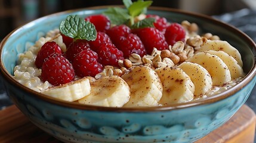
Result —
[[95, 76], [102, 71], [102, 65], [97, 62], [97, 53], [92, 50], [80, 52], [73, 60], [73, 67], [77, 76]]

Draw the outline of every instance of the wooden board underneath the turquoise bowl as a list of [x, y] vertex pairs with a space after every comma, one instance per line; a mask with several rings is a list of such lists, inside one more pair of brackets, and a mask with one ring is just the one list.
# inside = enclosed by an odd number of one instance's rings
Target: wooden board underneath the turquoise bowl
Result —
[[[253, 143], [256, 116], [247, 105], [223, 126], [196, 141], [196, 143], [225, 142]], [[60, 142], [29, 122], [15, 105], [0, 111], [0, 142]]]

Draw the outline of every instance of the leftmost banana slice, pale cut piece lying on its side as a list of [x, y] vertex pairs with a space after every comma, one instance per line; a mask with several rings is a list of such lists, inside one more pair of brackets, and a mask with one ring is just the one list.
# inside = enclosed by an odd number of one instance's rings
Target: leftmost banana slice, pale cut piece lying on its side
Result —
[[53, 88], [42, 91], [42, 94], [57, 98], [58, 100], [73, 102], [87, 96], [90, 94], [90, 91], [89, 79], [82, 78], [75, 82], [54, 86]]

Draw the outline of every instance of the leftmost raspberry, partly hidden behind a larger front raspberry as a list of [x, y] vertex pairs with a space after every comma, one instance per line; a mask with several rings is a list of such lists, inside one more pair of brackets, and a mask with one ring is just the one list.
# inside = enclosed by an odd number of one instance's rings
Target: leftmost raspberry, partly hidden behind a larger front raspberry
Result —
[[38, 55], [36, 56], [36, 67], [38, 67], [38, 69], [41, 69], [45, 58], [54, 57], [58, 54], [61, 55], [61, 53], [61, 48], [57, 45], [56, 42], [46, 42], [44, 45], [42, 45], [41, 49], [38, 52]]

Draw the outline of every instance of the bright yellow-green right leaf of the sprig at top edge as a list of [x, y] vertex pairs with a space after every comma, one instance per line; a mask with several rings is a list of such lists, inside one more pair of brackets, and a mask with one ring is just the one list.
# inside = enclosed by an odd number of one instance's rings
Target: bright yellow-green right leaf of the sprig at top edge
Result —
[[131, 17], [135, 17], [138, 16], [142, 13], [142, 11], [144, 12], [144, 8], [149, 7], [152, 4], [153, 1], [137, 1], [137, 2], [133, 2], [131, 6], [129, 6], [128, 11], [129, 11], [129, 15], [131, 15]]

